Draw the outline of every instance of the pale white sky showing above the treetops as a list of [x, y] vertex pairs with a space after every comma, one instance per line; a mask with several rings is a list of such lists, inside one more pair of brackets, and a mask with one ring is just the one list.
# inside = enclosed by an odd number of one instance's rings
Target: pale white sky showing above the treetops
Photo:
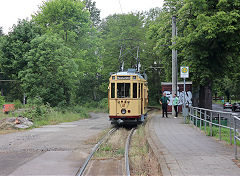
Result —
[[[18, 19], [31, 19], [38, 7], [46, 0], [1, 0], [0, 27], [7, 34]], [[154, 7], [162, 7], [163, 0], [94, 0], [101, 10], [101, 18], [115, 13], [145, 11]], [[122, 10], [121, 10], [122, 9]]]

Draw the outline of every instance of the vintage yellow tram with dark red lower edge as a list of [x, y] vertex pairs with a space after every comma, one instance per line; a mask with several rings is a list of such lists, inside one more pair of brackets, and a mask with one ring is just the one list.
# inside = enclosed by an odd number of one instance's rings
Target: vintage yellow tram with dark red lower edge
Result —
[[111, 74], [108, 87], [109, 118], [112, 124], [141, 123], [147, 114], [146, 75], [135, 69]]

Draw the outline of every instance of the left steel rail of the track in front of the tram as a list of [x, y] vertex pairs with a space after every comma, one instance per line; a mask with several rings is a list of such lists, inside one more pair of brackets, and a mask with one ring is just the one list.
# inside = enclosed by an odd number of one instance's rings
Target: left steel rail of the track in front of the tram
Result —
[[87, 157], [87, 159], [85, 160], [83, 166], [77, 171], [76, 176], [81, 176], [81, 175], [84, 173], [84, 171], [85, 171], [85, 169], [86, 169], [89, 161], [91, 160], [92, 156], [94, 155], [94, 153], [98, 150], [98, 148], [100, 147], [100, 145], [107, 139], [107, 137], [110, 136], [112, 133], [114, 133], [116, 130], [117, 130], [117, 128], [111, 129], [111, 130], [93, 147], [91, 153], [88, 155], [88, 157]]

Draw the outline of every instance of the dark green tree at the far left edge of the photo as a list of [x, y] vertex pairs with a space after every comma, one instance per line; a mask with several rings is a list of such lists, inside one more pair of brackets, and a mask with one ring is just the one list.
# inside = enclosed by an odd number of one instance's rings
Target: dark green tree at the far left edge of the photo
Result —
[[12, 31], [0, 39], [0, 66], [3, 78], [16, 80], [4, 83], [7, 101], [21, 99], [23, 96], [18, 73], [27, 66], [24, 55], [31, 49], [31, 40], [39, 35], [41, 35], [41, 29], [34, 22], [19, 20], [17, 25], [13, 25]]

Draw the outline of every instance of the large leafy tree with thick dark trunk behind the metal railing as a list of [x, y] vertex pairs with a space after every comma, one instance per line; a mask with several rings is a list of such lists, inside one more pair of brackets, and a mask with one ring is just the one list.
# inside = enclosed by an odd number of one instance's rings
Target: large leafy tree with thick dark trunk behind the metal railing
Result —
[[183, 63], [191, 68], [194, 83], [199, 83], [200, 107], [211, 108], [213, 80], [223, 76], [229, 63], [238, 57], [240, 4], [228, 1], [185, 1], [179, 10], [182, 36], [178, 39]]

